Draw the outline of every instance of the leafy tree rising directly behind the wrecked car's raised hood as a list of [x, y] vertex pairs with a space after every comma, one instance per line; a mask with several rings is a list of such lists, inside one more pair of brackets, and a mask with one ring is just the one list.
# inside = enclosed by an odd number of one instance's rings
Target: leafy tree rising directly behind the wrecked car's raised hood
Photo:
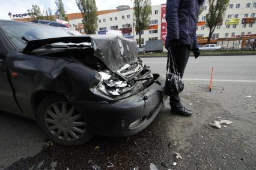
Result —
[[76, 0], [82, 14], [82, 23], [86, 34], [96, 34], [98, 27], [97, 5], [95, 0]]

